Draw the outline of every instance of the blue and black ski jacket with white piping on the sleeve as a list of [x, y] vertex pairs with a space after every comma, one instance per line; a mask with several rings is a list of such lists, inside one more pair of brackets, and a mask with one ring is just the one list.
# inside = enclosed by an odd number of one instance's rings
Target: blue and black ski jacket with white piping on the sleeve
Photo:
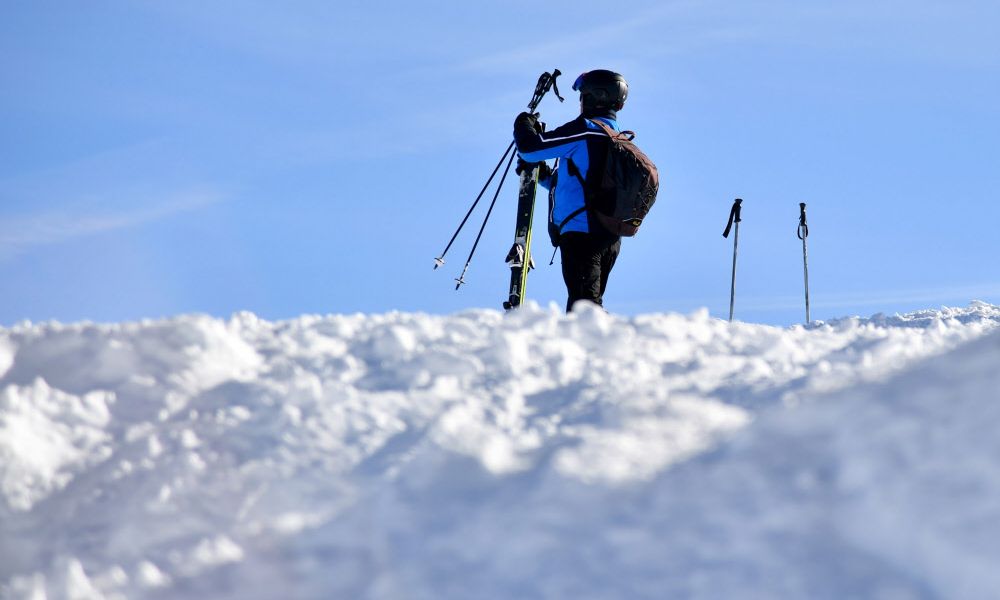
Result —
[[591, 122], [594, 119], [600, 119], [619, 131], [613, 113], [593, 117], [581, 115], [561, 127], [542, 133], [536, 132], [527, 119], [519, 118], [514, 122], [514, 143], [522, 159], [529, 163], [557, 159], [553, 176], [539, 182], [550, 189], [550, 232], [562, 225], [557, 233], [605, 233], [603, 227], [591, 220], [590, 211], [584, 210], [585, 196], [581, 182], [581, 179], [589, 181], [587, 176], [591, 166], [603, 165], [607, 156], [608, 136]]

